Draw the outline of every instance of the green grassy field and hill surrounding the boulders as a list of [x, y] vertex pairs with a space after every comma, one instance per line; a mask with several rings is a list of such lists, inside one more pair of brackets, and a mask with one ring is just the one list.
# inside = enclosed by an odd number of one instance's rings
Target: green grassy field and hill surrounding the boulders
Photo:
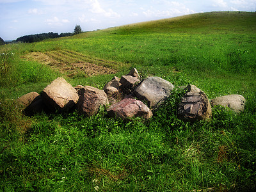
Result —
[[[255, 190], [256, 13], [197, 13], [1, 45], [0, 53], [0, 191]], [[195, 84], [210, 99], [243, 95], [244, 112], [216, 107], [211, 122], [182, 122], [179, 89], [146, 122], [108, 118], [104, 108], [29, 117], [15, 103], [58, 76], [102, 88], [131, 67]]]

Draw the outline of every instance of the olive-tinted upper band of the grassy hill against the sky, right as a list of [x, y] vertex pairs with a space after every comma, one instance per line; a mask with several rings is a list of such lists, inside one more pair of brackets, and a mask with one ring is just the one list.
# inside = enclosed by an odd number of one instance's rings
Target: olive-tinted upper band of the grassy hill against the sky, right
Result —
[[255, 33], [256, 13], [207, 12], [108, 28], [93, 33]]

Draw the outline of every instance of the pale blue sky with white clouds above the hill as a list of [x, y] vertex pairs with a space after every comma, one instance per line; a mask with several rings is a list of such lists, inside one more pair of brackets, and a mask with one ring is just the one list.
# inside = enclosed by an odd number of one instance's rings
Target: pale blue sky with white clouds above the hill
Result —
[[255, 0], [0, 0], [0, 37], [106, 29], [200, 12], [255, 12]]

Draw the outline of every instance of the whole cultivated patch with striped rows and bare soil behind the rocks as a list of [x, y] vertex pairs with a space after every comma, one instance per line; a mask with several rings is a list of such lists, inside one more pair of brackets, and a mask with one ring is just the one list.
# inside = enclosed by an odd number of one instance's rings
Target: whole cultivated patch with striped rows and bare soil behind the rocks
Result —
[[115, 74], [117, 70], [109, 67], [118, 67], [119, 65], [112, 61], [90, 58], [74, 51], [29, 52], [22, 58], [44, 63], [68, 77]]

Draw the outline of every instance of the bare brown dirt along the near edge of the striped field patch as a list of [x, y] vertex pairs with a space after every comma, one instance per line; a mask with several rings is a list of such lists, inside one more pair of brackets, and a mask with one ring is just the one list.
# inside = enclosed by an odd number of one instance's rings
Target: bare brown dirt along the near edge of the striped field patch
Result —
[[79, 63], [64, 63], [58, 60], [54, 60], [51, 56], [47, 56], [43, 52], [30, 52], [22, 58], [26, 60], [34, 60], [45, 65], [50, 66], [53, 70], [61, 72], [68, 77], [74, 76], [99, 76], [102, 74], [115, 74], [116, 70], [108, 67], [103, 67], [100, 65], [95, 65], [89, 62], [79, 62]]

